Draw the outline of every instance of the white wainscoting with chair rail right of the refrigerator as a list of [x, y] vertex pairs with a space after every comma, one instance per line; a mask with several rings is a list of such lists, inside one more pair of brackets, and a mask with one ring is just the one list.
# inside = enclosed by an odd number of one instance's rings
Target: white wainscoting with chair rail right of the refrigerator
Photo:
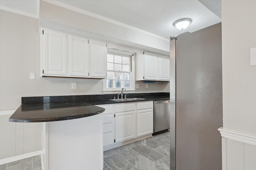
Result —
[[256, 135], [218, 130], [222, 136], [222, 170], [256, 170]]

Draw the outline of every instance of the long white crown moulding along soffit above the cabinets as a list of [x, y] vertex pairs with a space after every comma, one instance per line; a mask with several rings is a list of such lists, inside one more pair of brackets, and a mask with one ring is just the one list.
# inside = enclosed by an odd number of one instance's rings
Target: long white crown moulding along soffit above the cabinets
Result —
[[88, 11], [82, 10], [82, 9], [80, 9], [80, 8], [76, 8], [76, 7], [74, 7], [74, 6], [70, 6], [70, 5], [68, 5], [68, 4], [64, 4], [64, 3], [60, 2], [60, 1], [56, 1], [56, 0], [43, 0], [43, 1], [44, 1], [44, 2], [48, 2], [48, 3], [50, 3], [50, 4], [54, 4], [54, 5], [56, 5], [56, 6], [60, 6], [60, 7], [62, 7], [62, 8], [66, 8], [66, 9], [68, 9], [68, 10], [72, 10], [72, 11], [74, 11], [74, 12], [78, 12], [78, 13], [81, 13], [81, 14], [84, 14], [84, 15], [87, 15], [87, 16], [91, 16], [91, 17], [94, 17], [94, 18], [98, 18], [98, 19], [100, 19], [100, 20], [107, 21], [107, 22], [109, 22], [109, 23], [113, 23], [113, 24], [118, 25], [118, 26], [121, 26], [121, 27], [125, 27], [125, 28], [131, 29], [131, 30], [133, 30], [133, 31], [137, 31], [137, 32], [140, 32], [140, 33], [144, 33], [144, 34], [146, 34], [146, 35], [150, 35], [150, 36], [152, 36], [152, 37], [156, 37], [156, 38], [161, 39], [161, 40], [164, 40], [164, 41], [168, 41], [168, 42], [170, 41], [169, 39], [164, 38], [164, 37], [161, 37], [161, 36], [159, 36], [159, 35], [155, 35], [155, 34], [149, 33], [149, 32], [144, 31], [144, 30], [142, 30], [142, 29], [138, 29], [138, 28], [136, 28], [136, 27], [132, 27], [132, 26], [130, 26], [130, 25], [126, 25], [126, 24], [124, 24], [124, 23], [121, 23], [121, 22], [118, 22], [118, 21], [115, 21], [115, 20], [111, 20], [111, 19], [109, 19], [109, 18], [106, 18], [106, 17], [100, 16], [100, 15], [94, 14], [94, 13], [92, 13], [92, 12], [88, 12]]

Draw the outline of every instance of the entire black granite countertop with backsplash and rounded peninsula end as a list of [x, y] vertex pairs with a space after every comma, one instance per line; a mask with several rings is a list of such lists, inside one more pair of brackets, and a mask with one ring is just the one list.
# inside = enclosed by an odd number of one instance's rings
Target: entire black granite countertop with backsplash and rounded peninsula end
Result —
[[94, 106], [101, 104], [118, 104], [128, 102], [143, 102], [168, 100], [169, 93], [128, 94], [128, 98], [144, 98], [145, 100], [131, 100], [116, 102], [116, 94], [80, 95], [80, 96], [44, 96], [22, 97], [22, 105], [9, 118], [12, 122], [46, 122], [77, 119], [96, 115], [105, 111], [104, 108]]

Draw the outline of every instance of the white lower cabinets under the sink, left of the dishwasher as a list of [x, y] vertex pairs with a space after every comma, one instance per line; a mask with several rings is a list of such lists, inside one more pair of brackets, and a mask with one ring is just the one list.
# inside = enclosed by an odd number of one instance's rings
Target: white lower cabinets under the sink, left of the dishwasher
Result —
[[118, 143], [153, 133], [153, 101], [97, 106], [105, 108], [103, 112], [104, 147], [111, 148]]

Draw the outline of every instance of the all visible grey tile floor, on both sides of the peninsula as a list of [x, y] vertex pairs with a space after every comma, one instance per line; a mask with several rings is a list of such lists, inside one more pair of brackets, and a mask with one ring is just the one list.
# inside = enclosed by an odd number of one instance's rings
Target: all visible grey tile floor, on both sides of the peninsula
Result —
[[[104, 152], [104, 170], [170, 170], [170, 132]], [[0, 170], [42, 170], [40, 156], [0, 165]]]

